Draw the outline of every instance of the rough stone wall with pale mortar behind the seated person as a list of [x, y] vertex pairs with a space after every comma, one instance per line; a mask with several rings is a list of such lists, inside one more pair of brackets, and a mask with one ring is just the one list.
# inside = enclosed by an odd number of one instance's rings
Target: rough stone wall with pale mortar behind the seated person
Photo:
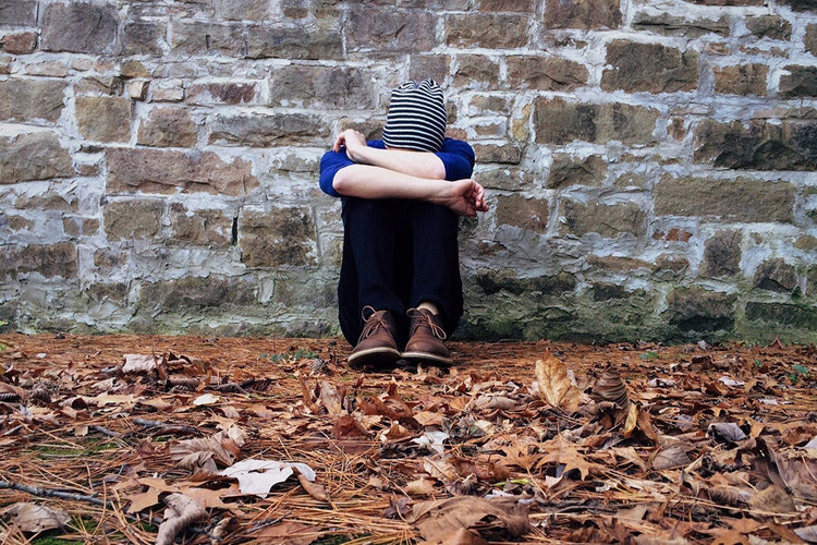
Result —
[[817, 341], [813, 0], [0, 0], [0, 320], [332, 335], [333, 135], [432, 76], [479, 338]]

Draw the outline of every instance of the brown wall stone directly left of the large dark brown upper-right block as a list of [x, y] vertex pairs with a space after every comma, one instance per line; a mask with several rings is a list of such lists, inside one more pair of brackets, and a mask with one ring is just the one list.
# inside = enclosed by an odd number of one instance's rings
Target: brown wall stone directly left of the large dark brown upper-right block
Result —
[[589, 77], [583, 64], [557, 57], [513, 56], [505, 62], [508, 85], [514, 89], [573, 90]]

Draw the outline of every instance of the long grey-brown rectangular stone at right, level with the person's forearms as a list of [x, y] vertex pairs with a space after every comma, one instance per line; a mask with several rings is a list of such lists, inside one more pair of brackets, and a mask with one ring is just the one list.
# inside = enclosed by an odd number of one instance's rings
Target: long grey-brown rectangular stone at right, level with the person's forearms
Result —
[[789, 182], [675, 179], [670, 174], [653, 190], [656, 216], [716, 216], [745, 222], [792, 221], [795, 195]]

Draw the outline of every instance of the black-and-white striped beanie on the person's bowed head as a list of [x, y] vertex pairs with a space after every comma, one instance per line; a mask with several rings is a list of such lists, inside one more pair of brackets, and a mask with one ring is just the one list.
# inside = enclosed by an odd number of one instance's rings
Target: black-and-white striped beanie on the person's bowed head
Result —
[[434, 80], [406, 82], [391, 93], [383, 128], [388, 147], [439, 152], [446, 137], [446, 101]]

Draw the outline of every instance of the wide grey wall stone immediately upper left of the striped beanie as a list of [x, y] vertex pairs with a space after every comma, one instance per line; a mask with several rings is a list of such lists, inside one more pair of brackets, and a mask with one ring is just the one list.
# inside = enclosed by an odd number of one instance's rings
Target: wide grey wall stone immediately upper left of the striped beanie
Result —
[[269, 80], [272, 106], [370, 109], [374, 95], [371, 77], [354, 68], [289, 65]]

